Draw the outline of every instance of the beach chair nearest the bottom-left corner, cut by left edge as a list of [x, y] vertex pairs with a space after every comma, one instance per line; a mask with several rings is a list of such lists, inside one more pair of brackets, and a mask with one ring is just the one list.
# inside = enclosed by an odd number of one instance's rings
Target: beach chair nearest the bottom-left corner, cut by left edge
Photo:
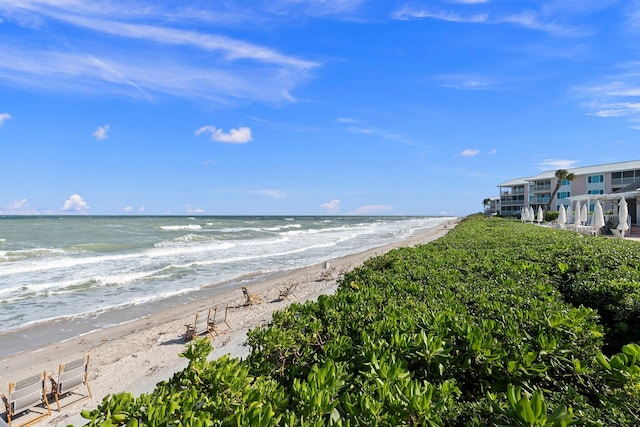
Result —
[[[9, 384], [9, 393], [0, 397], [4, 401], [7, 424], [10, 427], [21, 427], [34, 424], [51, 415], [44, 382], [47, 373], [34, 375], [24, 380]], [[27, 417], [21, 424], [16, 424], [16, 418]]]

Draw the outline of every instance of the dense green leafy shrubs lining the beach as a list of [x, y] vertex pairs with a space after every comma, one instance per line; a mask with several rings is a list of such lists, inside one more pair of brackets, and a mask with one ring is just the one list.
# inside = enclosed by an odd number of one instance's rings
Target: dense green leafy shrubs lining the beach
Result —
[[640, 425], [640, 245], [468, 218], [91, 425]]

